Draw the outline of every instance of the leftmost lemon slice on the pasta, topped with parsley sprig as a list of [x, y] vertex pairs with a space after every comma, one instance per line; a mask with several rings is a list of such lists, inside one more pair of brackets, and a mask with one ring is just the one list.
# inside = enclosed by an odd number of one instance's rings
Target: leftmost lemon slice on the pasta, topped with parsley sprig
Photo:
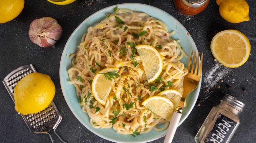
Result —
[[102, 105], [106, 104], [106, 100], [109, 96], [111, 86], [114, 83], [114, 79], [108, 80], [104, 74], [107, 72], [118, 71], [118, 68], [106, 68], [98, 72], [92, 82], [92, 92], [95, 99]]

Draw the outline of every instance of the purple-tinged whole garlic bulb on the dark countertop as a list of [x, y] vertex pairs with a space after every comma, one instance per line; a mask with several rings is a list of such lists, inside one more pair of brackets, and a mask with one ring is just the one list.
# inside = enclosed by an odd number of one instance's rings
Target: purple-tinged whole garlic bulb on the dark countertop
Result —
[[54, 47], [62, 36], [62, 27], [51, 17], [43, 17], [32, 21], [29, 38], [40, 47]]

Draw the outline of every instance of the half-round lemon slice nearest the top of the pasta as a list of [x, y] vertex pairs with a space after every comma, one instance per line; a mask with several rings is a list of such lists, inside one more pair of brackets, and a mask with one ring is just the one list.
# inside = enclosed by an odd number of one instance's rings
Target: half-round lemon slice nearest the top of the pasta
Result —
[[136, 49], [144, 67], [148, 83], [153, 82], [159, 77], [163, 69], [161, 55], [154, 47], [149, 45], [139, 45], [136, 46]]

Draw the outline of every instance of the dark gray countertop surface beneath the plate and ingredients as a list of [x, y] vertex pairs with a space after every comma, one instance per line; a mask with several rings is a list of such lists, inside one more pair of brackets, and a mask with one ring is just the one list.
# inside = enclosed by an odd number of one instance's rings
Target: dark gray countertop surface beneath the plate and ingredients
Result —
[[[93, 5], [89, 5], [90, 3]], [[148, 0], [76, 0], [69, 5], [54, 5], [46, 0], [25, 0], [21, 14], [14, 20], [0, 24], [0, 79], [3, 80], [11, 71], [23, 65], [33, 64], [38, 72], [50, 75], [56, 94], [53, 99], [63, 118], [56, 132], [67, 142], [110, 142], [86, 129], [69, 109], [60, 87], [59, 64], [64, 46], [75, 30], [88, 16], [96, 11], [121, 3], [149, 4]], [[219, 105], [224, 94], [230, 94], [245, 103], [240, 114], [241, 124], [231, 142], [255, 142], [255, 84], [256, 84], [256, 4], [247, 0], [250, 7], [250, 21], [232, 24], [219, 14], [219, 6], [211, 0], [208, 7], [198, 15], [184, 16], [174, 7], [172, 0], [150, 0], [150, 5], [160, 8], [186, 27], [195, 41], [198, 51], [203, 52], [203, 79], [199, 94], [200, 104], [196, 103], [188, 118], [178, 127], [174, 143], [194, 142], [194, 137], [203, 124], [211, 108]], [[29, 26], [34, 19], [53, 17], [63, 28], [63, 35], [55, 48], [41, 48], [28, 37]], [[156, 17], [157, 18], [157, 17]], [[244, 33], [251, 43], [251, 54], [247, 62], [238, 68], [227, 68], [213, 60], [210, 42], [213, 36], [226, 29], [235, 29]], [[223, 79], [224, 82], [220, 82]], [[220, 88], [217, 88], [220, 85]], [[228, 88], [231, 86], [231, 89]], [[209, 91], [206, 91], [206, 88]], [[243, 92], [246, 89], [246, 92]], [[14, 103], [6, 88], [0, 84], [0, 142], [51, 142], [48, 135], [33, 135], [24, 120], [17, 114]], [[53, 132], [51, 132], [53, 134]], [[53, 136], [55, 142], [60, 142]], [[154, 143], [164, 141], [159, 138]]]

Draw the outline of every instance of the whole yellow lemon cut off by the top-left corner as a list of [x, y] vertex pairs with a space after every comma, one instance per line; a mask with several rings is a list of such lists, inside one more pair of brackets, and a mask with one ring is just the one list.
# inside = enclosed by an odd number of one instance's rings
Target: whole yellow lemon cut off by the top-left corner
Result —
[[17, 17], [24, 8], [24, 0], [0, 0], [0, 24]]

